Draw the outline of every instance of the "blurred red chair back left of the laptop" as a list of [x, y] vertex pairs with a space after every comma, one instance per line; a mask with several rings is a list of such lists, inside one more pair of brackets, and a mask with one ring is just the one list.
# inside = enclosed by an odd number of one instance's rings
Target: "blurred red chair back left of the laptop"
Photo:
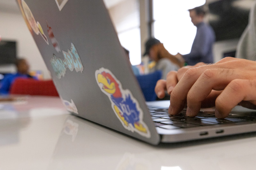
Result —
[[15, 79], [10, 88], [10, 94], [59, 96], [52, 80], [34, 80], [32, 78]]

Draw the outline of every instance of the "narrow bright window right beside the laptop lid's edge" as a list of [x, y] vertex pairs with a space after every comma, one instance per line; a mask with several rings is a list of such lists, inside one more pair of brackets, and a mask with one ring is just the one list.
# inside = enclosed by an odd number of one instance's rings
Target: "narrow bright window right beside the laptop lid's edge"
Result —
[[121, 45], [130, 51], [132, 65], [141, 63], [140, 4], [138, 0], [122, 0], [108, 8]]

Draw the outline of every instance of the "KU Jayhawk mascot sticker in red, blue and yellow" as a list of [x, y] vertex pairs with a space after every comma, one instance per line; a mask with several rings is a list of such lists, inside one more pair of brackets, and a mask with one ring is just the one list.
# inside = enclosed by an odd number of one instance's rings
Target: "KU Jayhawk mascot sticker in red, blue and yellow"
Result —
[[149, 138], [151, 134], [143, 122], [142, 109], [132, 92], [123, 89], [120, 81], [108, 69], [96, 70], [95, 78], [100, 90], [108, 96], [112, 109], [124, 128]]

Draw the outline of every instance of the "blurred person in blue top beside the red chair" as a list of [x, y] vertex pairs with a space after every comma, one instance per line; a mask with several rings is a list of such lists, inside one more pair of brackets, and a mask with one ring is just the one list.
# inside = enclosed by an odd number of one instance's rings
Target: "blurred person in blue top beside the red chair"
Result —
[[17, 73], [9, 74], [4, 77], [0, 85], [0, 94], [9, 94], [10, 87], [16, 78], [34, 78], [28, 74], [29, 64], [26, 59], [17, 59], [15, 65]]

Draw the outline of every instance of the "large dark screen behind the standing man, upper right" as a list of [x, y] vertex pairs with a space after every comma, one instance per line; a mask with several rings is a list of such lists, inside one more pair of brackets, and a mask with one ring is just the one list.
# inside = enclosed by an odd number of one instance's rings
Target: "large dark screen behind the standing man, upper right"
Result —
[[[246, 0], [240, 1], [243, 4], [249, 3]], [[218, 0], [209, 3], [209, 24], [216, 34], [216, 41], [239, 39], [248, 25], [250, 9], [235, 5], [236, 2]]]

